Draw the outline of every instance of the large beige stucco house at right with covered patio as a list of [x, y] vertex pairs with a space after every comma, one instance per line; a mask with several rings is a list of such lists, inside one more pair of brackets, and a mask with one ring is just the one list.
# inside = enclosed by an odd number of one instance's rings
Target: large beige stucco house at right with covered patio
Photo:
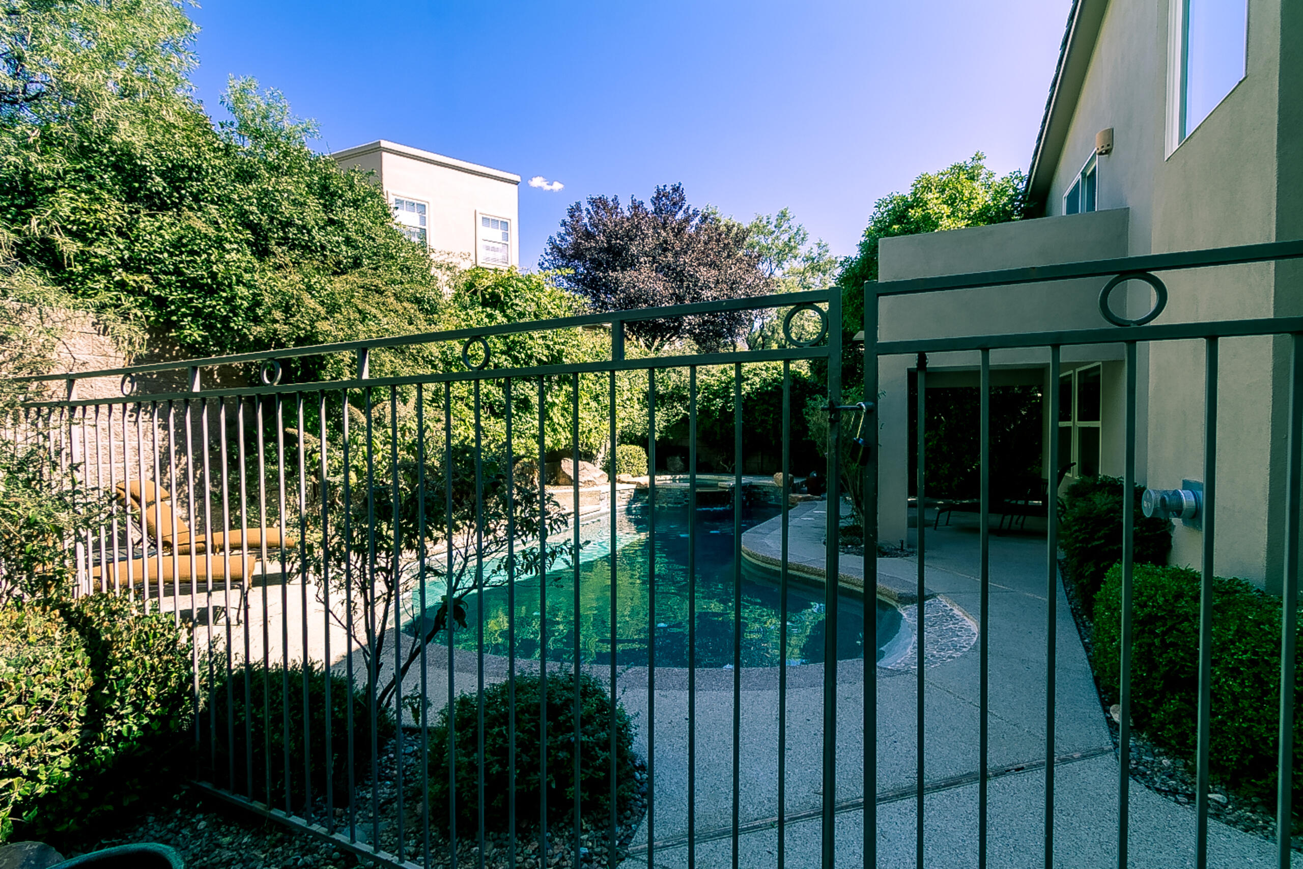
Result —
[[[1028, 177], [1033, 218], [886, 238], [882, 280], [1303, 238], [1303, 3], [1076, 0]], [[1303, 267], [1167, 272], [1157, 323], [1298, 315]], [[1098, 328], [1104, 280], [883, 298], [881, 340]], [[1148, 285], [1115, 310], [1140, 317]], [[1122, 310], [1123, 304], [1126, 311]], [[1203, 468], [1201, 341], [1140, 345], [1138, 481], [1178, 489]], [[992, 352], [993, 383], [1059, 390], [1062, 464], [1122, 474], [1121, 344]], [[1285, 533], [1289, 339], [1224, 343], [1217, 564], [1280, 588]], [[977, 384], [976, 353], [929, 358], [928, 386]], [[880, 362], [881, 537], [907, 537], [907, 395], [915, 360]], [[1044, 469], [1049, 476], [1052, 469]], [[1171, 562], [1197, 564], [1201, 532], [1175, 525]]]

